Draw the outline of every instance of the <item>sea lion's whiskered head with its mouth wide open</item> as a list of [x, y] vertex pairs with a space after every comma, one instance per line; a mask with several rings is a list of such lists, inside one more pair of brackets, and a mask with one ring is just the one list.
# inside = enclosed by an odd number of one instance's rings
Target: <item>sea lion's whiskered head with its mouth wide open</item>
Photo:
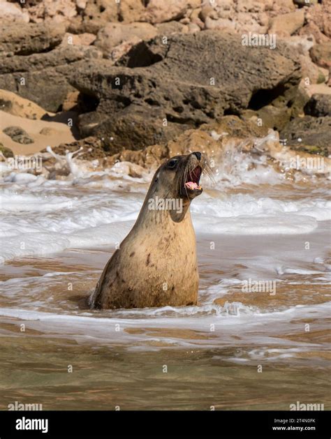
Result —
[[159, 188], [168, 188], [172, 198], [182, 198], [184, 201], [193, 200], [203, 193], [200, 177], [207, 166], [205, 156], [199, 151], [185, 156], [169, 158], [156, 172], [155, 181]]

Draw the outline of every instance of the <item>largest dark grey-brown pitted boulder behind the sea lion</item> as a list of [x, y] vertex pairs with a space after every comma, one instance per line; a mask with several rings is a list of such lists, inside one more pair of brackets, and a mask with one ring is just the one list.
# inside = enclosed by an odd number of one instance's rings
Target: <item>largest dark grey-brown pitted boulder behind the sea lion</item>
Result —
[[247, 49], [239, 36], [204, 31], [138, 43], [117, 66], [81, 63], [71, 84], [98, 102], [80, 116], [82, 135], [141, 149], [223, 114], [286, 105], [300, 77], [299, 62], [281, 45]]

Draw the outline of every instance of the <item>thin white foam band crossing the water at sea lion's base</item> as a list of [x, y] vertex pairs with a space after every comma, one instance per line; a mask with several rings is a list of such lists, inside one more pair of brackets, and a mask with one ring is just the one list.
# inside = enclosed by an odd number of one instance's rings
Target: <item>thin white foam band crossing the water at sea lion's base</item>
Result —
[[[281, 345], [285, 343], [279, 338], [279, 329], [284, 325], [284, 334], [288, 331], [288, 322], [292, 320], [300, 320], [302, 316], [309, 314], [310, 318], [326, 318], [330, 315], [330, 302], [325, 304], [310, 306], [293, 306], [285, 311], [277, 311], [273, 313], [260, 313], [259, 311], [250, 310], [247, 306], [237, 302], [239, 311], [237, 313], [227, 313], [226, 306], [223, 307], [225, 312], [215, 314], [201, 306], [200, 313], [194, 312], [193, 308], [198, 307], [181, 307], [171, 308], [165, 307], [159, 309], [156, 314], [154, 308], [147, 308], [135, 312], [135, 318], [131, 317], [130, 311], [110, 312], [109, 317], [100, 317], [96, 313], [82, 313], [81, 315], [73, 315], [68, 313], [45, 313], [42, 311], [33, 311], [20, 308], [0, 308], [1, 318], [18, 319], [24, 321], [27, 327], [34, 329], [42, 329], [43, 332], [53, 334], [62, 334], [66, 336], [74, 336], [76, 340], [88, 341], [89, 343], [95, 338], [100, 343], [110, 343], [112, 346], [117, 344], [131, 345], [131, 349], [148, 349], [146, 342], [158, 340], [169, 342], [172, 345], [195, 347], [195, 348], [212, 348], [222, 345], [233, 344], [233, 336], [240, 336], [240, 343], [245, 340], [250, 344], [262, 346], [261, 348], [251, 351], [249, 357], [258, 359], [264, 357], [265, 344]], [[240, 309], [240, 306], [242, 310]], [[171, 308], [170, 310], [167, 308]], [[221, 308], [221, 307], [220, 307]], [[171, 310], [177, 310], [177, 315], [169, 313]], [[190, 312], [191, 311], [191, 312]], [[179, 318], [179, 316], [181, 318]], [[200, 318], [198, 318], [200, 317]], [[16, 320], [17, 323], [17, 320]], [[210, 332], [210, 325], [214, 325], [214, 332]], [[266, 326], [264, 336], [260, 334], [261, 325]], [[294, 323], [292, 323], [294, 327]], [[300, 325], [300, 322], [298, 323]], [[119, 327], [117, 331], [116, 327]], [[87, 329], [88, 328], [88, 329]], [[126, 331], [126, 329], [146, 329], [146, 333], [134, 334]], [[148, 329], [173, 329], [180, 330], [189, 329], [209, 336], [200, 339], [195, 337], [181, 338], [180, 336], [169, 336], [165, 333], [149, 334]], [[258, 333], [256, 333], [258, 332]], [[180, 334], [180, 333], [179, 333]], [[276, 338], [274, 338], [274, 335]], [[135, 345], [132, 345], [135, 343]], [[136, 344], [138, 343], [138, 345]], [[143, 345], [139, 348], [140, 343]], [[175, 343], [175, 344], [173, 344]], [[286, 344], [289, 342], [286, 341]], [[299, 345], [299, 343], [292, 342]], [[271, 353], [283, 355], [286, 351], [277, 350]], [[289, 353], [289, 351], [287, 351]]]

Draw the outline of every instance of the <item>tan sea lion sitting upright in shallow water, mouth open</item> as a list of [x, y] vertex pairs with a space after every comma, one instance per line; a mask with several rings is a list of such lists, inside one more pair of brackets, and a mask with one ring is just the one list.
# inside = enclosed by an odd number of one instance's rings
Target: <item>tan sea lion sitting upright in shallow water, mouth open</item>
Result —
[[175, 156], [154, 174], [131, 232], [108, 261], [91, 308], [194, 305], [198, 299], [196, 236], [190, 204], [208, 172], [200, 152]]

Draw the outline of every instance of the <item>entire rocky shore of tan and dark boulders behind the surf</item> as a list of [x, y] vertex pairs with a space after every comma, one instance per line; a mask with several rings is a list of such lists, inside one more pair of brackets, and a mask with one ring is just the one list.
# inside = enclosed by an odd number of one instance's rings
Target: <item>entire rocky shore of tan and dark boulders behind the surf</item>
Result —
[[[245, 124], [281, 131], [295, 148], [299, 137], [325, 149], [330, 8], [316, 0], [0, 0], [1, 110], [30, 119], [78, 112], [80, 146], [103, 160], [159, 160], [174, 138], [210, 143], [208, 130], [237, 137]], [[274, 50], [242, 38], [267, 32], [277, 35]], [[38, 136], [57, 134], [38, 131], [34, 145]]]

